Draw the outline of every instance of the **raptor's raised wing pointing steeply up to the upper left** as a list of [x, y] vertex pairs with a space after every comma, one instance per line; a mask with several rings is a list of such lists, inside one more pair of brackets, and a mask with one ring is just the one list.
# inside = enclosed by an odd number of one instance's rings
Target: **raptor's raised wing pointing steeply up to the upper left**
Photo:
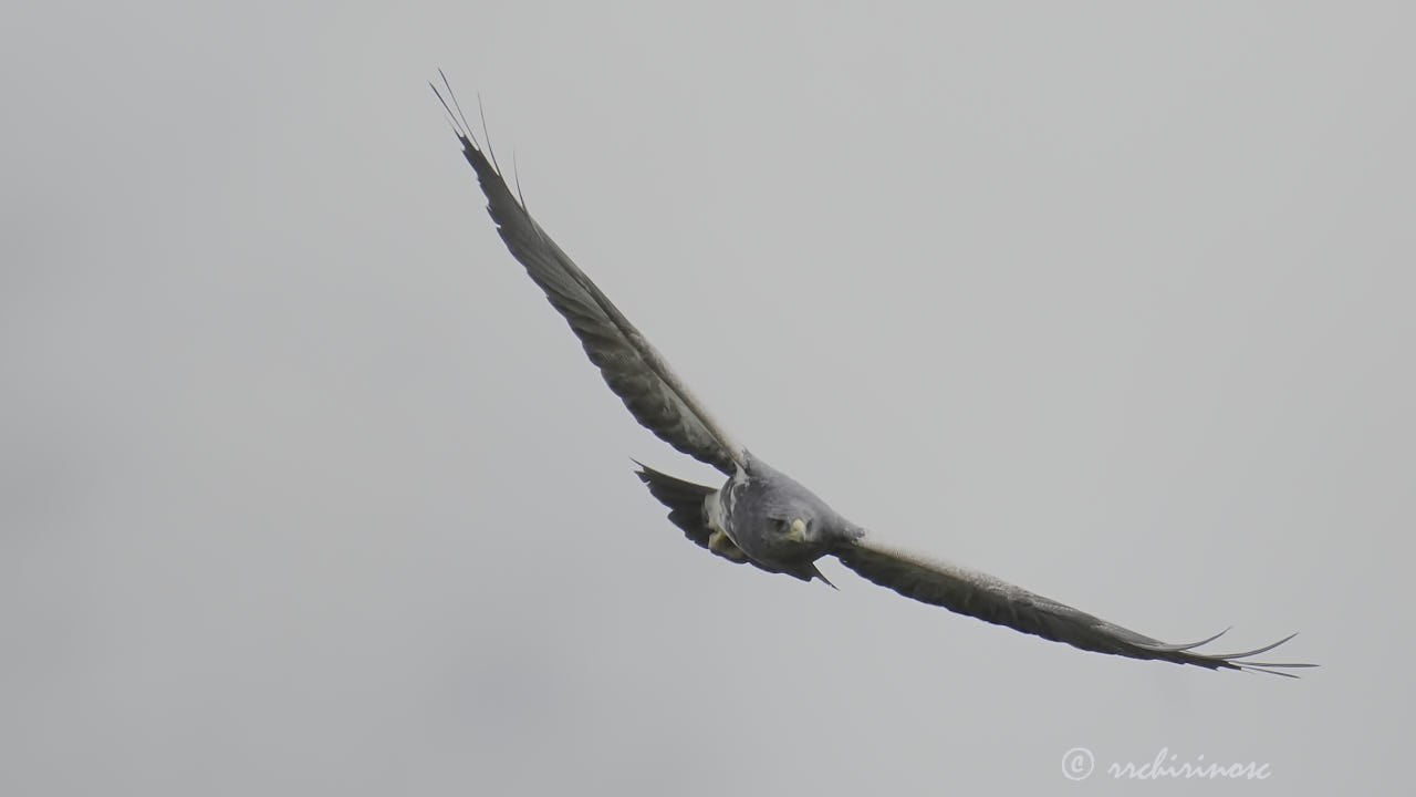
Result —
[[[507, 187], [494, 159], [489, 160], [472, 136], [452, 89], [447, 89], [453, 101], [450, 106], [436, 85], [433, 94], [447, 109], [463, 155], [487, 194], [487, 213], [507, 250], [565, 316], [610, 390], [624, 401], [634, 420], [660, 440], [731, 475], [743, 462], [742, 450], [708, 416], [634, 325], [531, 218], [525, 203]], [[457, 108], [456, 113], [453, 108]]]

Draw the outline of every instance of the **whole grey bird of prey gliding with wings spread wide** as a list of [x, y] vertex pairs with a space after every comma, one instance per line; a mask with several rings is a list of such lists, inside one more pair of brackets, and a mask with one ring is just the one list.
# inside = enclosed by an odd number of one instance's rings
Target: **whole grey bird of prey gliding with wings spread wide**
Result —
[[[440, 74], [440, 72], [439, 72]], [[1167, 644], [1099, 617], [1031, 593], [1007, 581], [877, 540], [843, 518], [810, 489], [767, 465], [728, 435], [644, 336], [629, 322], [527, 211], [496, 163], [473, 136], [457, 98], [443, 75], [447, 95], [432, 85], [463, 155], [487, 196], [487, 211], [511, 257], [581, 339], [634, 420], [660, 440], [722, 471], [721, 488], [683, 481], [639, 464], [637, 476], [668, 508], [668, 520], [684, 536], [728, 562], [746, 563], [803, 581], [827, 581], [816, 560], [834, 556], [847, 569], [901, 596], [1045, 640], [1138, 659], [1191, 664], [1296, 678], [1293, 668], [1310, 664], [1255, 661], [1293, 635], [1235, 654], [1197, 648], [1219, 635], [1189, 644]], [[483, 119], [483, 129], [486, 121]]]

